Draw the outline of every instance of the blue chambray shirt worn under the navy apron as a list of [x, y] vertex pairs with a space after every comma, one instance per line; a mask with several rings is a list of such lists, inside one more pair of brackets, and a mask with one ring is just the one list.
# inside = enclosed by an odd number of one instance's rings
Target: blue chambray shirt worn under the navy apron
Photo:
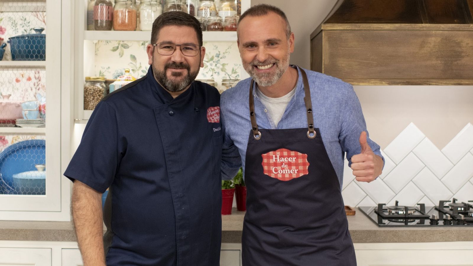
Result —
[[[307, 128], [302, 76], [297, 66], [292, 67], [297, 68], [299, 73], [296, 93], [289, 101], [278, 126], [264, 111], [265, 107], [256, 95], [255, 88], [253, 89], [254, 112], [259, 128]], [[314, 126], [320, 130], [325, 150], [327, 150], [340, 187], [342, 187], [344, 155], [346, 152], [346, 158], [351, 165], [351, 157], [361, 152], [359, 135], [362, 131], [368, 133], [365, 118], [358, 97], [349, 83], [319, 72], [304, 70], [307, 73], [310, 86]], [[222, 179], [234, 177], [235, 169], [240, 165], [243, 166], [245, 173], [246, 147], [251, 131], [248, 103], [250, 82], [251, 78], [238, 82], [234, 88], [224, 91], [220, 98], [220, 117], [225, 129], [223, 156], [227, 158], [227, 161], [222, 162]], [[383, 158], [379, 151], [379, 145], [369, 139], [369, 134], [368, 144], [376, 155]], [[281, 147], [283, 145], [284, 143], [281, 143]], [[235, 147], [239, 154], [236, 154]], [[241, 161], [239, 161], [240, 158]]]

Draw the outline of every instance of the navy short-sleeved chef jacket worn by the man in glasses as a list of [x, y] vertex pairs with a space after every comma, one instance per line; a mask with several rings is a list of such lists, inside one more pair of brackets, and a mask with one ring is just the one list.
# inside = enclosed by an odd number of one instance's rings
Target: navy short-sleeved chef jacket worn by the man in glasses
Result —
[[176, 98], [148, 74], [96, 106], [64, 175], [103, 193], [107, 265], [218, 266], [219, 92]]

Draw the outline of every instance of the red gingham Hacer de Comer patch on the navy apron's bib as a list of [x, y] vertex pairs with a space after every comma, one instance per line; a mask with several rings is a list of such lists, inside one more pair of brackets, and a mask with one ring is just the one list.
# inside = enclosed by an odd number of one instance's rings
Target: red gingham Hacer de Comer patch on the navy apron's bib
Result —
[[279, 149], [261, 156], [263, 157], [263, 173], [281, 181], [288, 181], [309, 173], [307, 154]]

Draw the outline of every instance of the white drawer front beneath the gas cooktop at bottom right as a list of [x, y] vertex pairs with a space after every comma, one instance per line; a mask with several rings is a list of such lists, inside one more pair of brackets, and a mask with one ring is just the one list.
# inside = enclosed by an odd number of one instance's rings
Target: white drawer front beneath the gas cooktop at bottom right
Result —
[[358, 266], [473, 266], [472, 242], [355, 243]]

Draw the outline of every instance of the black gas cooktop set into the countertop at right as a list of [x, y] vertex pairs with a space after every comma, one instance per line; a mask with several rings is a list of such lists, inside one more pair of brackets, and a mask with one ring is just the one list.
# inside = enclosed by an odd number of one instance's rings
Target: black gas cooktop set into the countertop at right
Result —
[[452, 203], [441, 200], [438, 206], [426, 207], [425, 204], [417, 206], [401, 206], [398, 201], [394, 206], [378, 204], [376, 207], [358, 207], [370, 220], [380, 227], [403, 226], [472, 226], [473, 227], [473, 201], [467, 203]]

